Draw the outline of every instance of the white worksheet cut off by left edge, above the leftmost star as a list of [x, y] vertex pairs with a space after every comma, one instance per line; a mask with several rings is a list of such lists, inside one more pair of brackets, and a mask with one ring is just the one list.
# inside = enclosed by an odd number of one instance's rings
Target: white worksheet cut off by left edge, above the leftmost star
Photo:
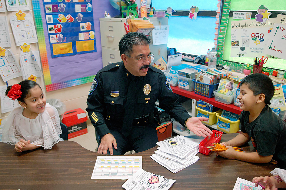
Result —
[[3, 48], [11, 47], [11, 40], [6, 16], [0, 16], [0, 34], [0, 46]]

